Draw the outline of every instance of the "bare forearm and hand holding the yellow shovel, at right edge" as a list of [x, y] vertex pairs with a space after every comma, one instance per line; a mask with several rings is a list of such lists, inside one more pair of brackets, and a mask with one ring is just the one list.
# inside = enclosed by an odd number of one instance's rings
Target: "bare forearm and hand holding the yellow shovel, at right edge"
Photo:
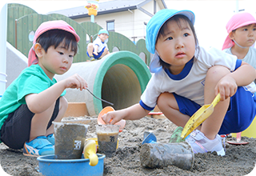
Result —
[[246, 62], [230, 74], [226, 74], [215, 87], [215, 94], [221, 94], [221, 100], [232, 97], [238, 86], [246, 86], [254, 82], [256, 78], [256, 70]]

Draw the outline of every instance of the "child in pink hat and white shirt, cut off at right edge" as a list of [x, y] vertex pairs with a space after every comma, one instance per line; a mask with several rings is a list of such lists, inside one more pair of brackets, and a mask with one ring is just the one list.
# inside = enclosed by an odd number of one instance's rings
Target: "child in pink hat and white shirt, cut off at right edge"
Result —
[[234, 54], [243, 62], [256, 69], [256, 49], [251, 47], [256, 41], [256, 20], [249, 13], [234, 14], [226, 24], [228, 36], [222, 46], [228, 54]]

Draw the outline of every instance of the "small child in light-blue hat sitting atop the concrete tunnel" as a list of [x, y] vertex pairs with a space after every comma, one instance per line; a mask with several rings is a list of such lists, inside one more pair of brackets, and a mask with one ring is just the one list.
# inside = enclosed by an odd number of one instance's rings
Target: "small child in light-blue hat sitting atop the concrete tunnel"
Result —
[[89, 43], [87, 46], [87, 55], [90, 57], [90, 61], [99, 60], [106, 54], [110, 54], [110, 51], [106, 45], [107, 38], [109, 38], [109, 32], [107, 30], [99, 30], [98, 37], [93, 43]]

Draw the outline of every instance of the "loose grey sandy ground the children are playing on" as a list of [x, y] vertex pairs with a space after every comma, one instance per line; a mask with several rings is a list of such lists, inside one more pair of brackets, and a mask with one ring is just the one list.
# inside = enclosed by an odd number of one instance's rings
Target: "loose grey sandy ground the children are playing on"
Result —
[[[80, 117], [81, 118], [81, 117]], [[84, 117], [90, 118], [90, 117]], [[95, 117], [91, 117], [95, 118]], [[86, 138], [95, 138], [96, 120], [89, 123]], [[256, 139], [242, 137], [247, 145], [226, 143], [226, 156], [216, 154], [194, 154], [194, 164], [190, 170], [177, 166], [149, 169], [141, 166], [140, 149], [143, 134], [150, 131], [158, 143], [168, 143], [177, 126], [165, 119], [142, 118], [127, 121], [125, 130], [119, 133], [119, 146], [112, 158], [104, 159], [104, 175], [256, 175]], [[226, 138], [235, 140], [234, 138]], [[0, 144], [0, 175], [42, 175], [38, 171], [38, 161], [22, 155], [22, 150], [10, 150]]]

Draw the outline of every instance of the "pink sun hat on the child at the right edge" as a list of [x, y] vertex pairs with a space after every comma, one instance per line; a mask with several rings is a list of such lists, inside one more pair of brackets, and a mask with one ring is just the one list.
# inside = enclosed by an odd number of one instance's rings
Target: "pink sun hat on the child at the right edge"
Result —
[[226, 31], [228, 35], [222, 46], [222, 50], [226, 48], [230, 48], [231, 46], [234, 46], [234, 42], [230, 39], [230, 36], [229, 36], [230, 32], [238, 29], [239, 27], [247, 26], [254, 23], [256, 23], [254, 16], [247, 12], [234, 14], [234, 16], [230, 18], [230, 21], [227, 22], [226, 24]]

